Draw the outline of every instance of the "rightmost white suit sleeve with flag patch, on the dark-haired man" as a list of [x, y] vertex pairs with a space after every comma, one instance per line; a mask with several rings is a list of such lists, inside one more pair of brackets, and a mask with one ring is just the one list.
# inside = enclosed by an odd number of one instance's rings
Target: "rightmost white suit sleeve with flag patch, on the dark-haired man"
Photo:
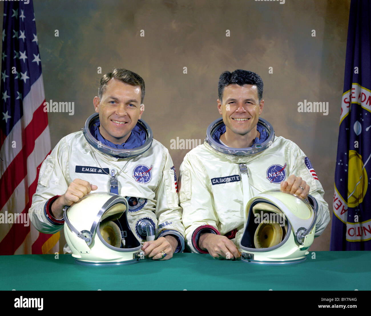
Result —
[[314, 168], [309, 168], [311, 167], [311, 162], [304, 152], [295, 143], [291, 144], [289, 151], [288, 155], [293, 166], [289, 175], [294, 174], [297, 177], [302, 177], [310, 187], [309, 194], [317, 201], [318, 213], [314, 236], [318, 237], [323, 233], [330, 221], [330, 211], [328, 204], [324, 200], [325, 191], [318, 180], [318, 176], [315, 174]]

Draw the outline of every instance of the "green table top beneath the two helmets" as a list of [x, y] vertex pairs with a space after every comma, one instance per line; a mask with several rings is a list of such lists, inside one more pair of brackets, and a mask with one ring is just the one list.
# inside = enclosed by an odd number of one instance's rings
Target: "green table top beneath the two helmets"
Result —
[[180, 253], [86, 267], [71, 255], [0, 256], [0, 290], [370, 290], [371, 251], [311, 251], [304, 263], [262, 266]]

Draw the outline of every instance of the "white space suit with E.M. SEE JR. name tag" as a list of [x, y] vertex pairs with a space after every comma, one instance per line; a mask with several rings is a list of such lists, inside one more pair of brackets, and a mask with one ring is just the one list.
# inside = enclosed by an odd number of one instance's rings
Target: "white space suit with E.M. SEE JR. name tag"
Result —
[[[145, 241], [145, 236], [138, 233], [137, 224], [139, 220], [147, 218], [153, 224], [157, 238], [171, 234], [178, 240], [176, 252], [183, 251], [184, 227], [181, 223], [175, 168], [167, 148], [155, 139], [152, 141], [150, 132], [147, 148], [139, 154], [137, 151], [135, 157], [120, 158], [106, 154], [100, 150], [106, 147], [101, 147], [99, 142], [96, 142], [96, 148], [91, 145], [96, 141], [91, 134], [86, 137], [85, 130], [89, 129], [92, 118], [96, 121], [98, 114], [88, 119], [84, 133], [79, 131], [63, 137], [43, 162], [29, 210], [33, 225], [48, 234], [61, 230], [64, 220], [52, 216], [50, 210], [53, 201], [64, 194], [76, 178], [97, 185], [98, 189], [92, 192], [110, 192], [111, 171], [114, 170], [118, 194], [127, 197], [129, 226], [138, 240]], [[144, 121], [138, 121], [138, 124], [151, 131]]]

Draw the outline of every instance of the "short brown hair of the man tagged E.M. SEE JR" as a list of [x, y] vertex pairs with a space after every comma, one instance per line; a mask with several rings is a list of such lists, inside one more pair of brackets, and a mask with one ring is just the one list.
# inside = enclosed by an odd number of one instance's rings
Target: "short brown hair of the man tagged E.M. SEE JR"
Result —
[[145, 93], [144, 80], [137, 73], [124, 69], [124, 68], [115, 68], [112, 70], [112, 72], [106, 73], [101, 78], [101, 82], [99, 83], [99, 88], [98, 88], [98, 97], [100, 100], [102, 100], [102, 95], [107, 88], [108, 81], [111, 80], [112, 78], [120, 80], [121, 82], [124, 82], [124, 83], [128, 83], [129, 85], [132, 85], [132, 86], [140, 86], [141, 93], [142, 93], [141, 103], [143, 103], [144, 93]]

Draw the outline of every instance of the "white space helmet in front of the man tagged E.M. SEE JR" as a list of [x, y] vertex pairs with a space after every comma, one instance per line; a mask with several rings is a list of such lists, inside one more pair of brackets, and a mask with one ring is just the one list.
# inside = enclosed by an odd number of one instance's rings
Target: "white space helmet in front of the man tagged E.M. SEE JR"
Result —
[[116, 265], [137, 263], [141, 244], [129, 228], [126, 198], [95, 192], [64, 211], [65, 237], [76, 263]]

